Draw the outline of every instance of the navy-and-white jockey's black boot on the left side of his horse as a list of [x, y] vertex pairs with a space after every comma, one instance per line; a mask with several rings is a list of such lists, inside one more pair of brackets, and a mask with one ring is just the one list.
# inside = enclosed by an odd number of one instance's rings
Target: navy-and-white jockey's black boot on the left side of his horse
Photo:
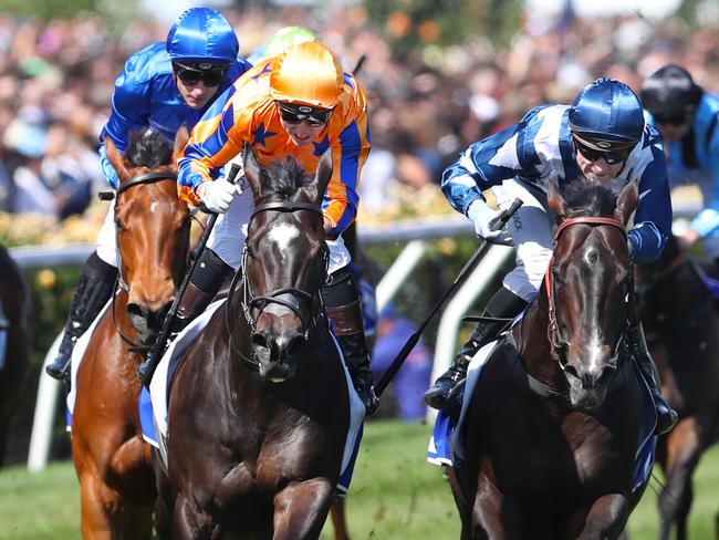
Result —
[[[517, 316], [524, 308], [527, 302], [511, 292], [509, 289], [501, 287], [490, 299], [482, 316], [493, 319], [512, 319]], [[451, 390], [467, 376], [467, 367], [477, 351], [487, 343], [497, 339], [497, 334], [507, 325], [507, 321], [481, 321], [478, 322], [472, 331], [472, 335], [467, 343], [459, 350], [452, 364], [442, 373], [435, 384], [425, 392], [425, 403], [433, 408], [444, 408], [447, 405], [447, 397]]]

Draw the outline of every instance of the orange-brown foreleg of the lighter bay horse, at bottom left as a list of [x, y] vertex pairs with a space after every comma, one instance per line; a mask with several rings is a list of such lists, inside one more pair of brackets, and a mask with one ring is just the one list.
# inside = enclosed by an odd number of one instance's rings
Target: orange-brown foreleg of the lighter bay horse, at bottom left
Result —
[[117, 494], [94, 474], [80, 477], [80, 519], [85, 540], [113, 537], [111, 512], [117, 507]]

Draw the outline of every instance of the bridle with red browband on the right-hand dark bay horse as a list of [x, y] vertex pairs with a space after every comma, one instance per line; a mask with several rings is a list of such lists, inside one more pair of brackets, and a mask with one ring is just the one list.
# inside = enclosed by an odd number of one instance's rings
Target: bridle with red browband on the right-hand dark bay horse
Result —
[[[627, 241], [627, 233], [626, 229], [624, 227], [624, 224], [622, 221], [618, 221], [613, 218], [601, 218], [601, 217], [576, 217], [576, 218], [569, 218], [563, 220], [559, 228], [556, 229], [556, 232], [554, 233], [554, 246], [556, 246], [556, 242], [560, 239], [560, 236], [562, 232], [564, 232], [567, 228], [574, 226], [574, 225], [588, 225], [592, 227], [602, 227], [602, 226], [608, 226], [608, 227], [614, 227], [622, 231], [622, 236], [625, 240]], [[552, 274], [552, 262], [554, 258], [550, 259], [549, 267], [546, 269], [546, 273], [544, 274], [544, 285], [546, 289], [546, 299], [549, 303], [548, 308], [548, 316], [549, 316], [549, 325], [548, 325], [548, 339], [550, 342], [550, 354], [553, 360], [559, 362], [560, 366], [562, 370], [566, 367], [567, 361], [566, 361], [566, 350], [570, 347], [570, 342], [565, 340], [560, 332], [560, 328], [556, 321], [556, 305], [554, 301], [554, 277]], [[628, 304], [629, 302], [629, 294], [633, 294], [632, 289], [633, 289], [633, 280], [634, 280], [634, 272], [633, 272], [633, 261], [632, 258], [629, 257], [629, 272], [626, 278], [627, 281], [627, 287], [628, 287], [628, 292], [626, 295], [625, 302]], [[628, 325], [628, 322], [625, 321], [625, 325]], [[617, 341], [617, 344], [614, 350], [614, 355], [612, 356], [612, 360], [609, 361], [609, 365], [614, 368], [617, 367], [618, 365], [618, 359], [619, 355], [624, 349], [624, 343], [626, 341], [627, 332], [626, 329], [624, 332], [622, 332], [619, 340]]]

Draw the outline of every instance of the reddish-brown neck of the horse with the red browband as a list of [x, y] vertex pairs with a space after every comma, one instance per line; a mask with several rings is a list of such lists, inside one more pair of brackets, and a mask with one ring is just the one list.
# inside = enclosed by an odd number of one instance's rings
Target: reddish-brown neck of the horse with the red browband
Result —
[[548, 336], [548, 305], [546, 294], [540, 291], [540, 297], [527, 309], [512, 335], [527, 373], [539, 382], [560, 390], [566, 380], [559, 362], [552, 359]]

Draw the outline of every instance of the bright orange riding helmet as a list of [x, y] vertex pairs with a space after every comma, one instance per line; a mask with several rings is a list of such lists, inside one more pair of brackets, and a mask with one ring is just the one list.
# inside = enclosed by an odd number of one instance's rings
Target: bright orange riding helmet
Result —
[[270, 74], [270, 95], [285, 103], [333, 108], [344, 91], [337, 56], [319, 41], [286, 48]]

